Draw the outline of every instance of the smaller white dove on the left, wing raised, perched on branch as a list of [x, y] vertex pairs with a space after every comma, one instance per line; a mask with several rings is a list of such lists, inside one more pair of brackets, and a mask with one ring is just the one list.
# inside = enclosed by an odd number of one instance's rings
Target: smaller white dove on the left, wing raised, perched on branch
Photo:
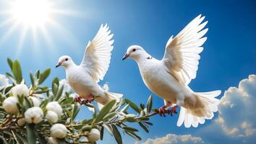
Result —
[[80, 66], [77, 66], [67, 55], [59, 58], [56, 68], [63, 66], [66, 69], [67, 81], [74, 92], [79, 95], [78, 99], [75, 99], [78, 102], [81, 98], [86, 102], [95, 99], [102, 106], [112, 99], [121, 98], [122, 94], [105, 91], [98, 85], [98, 81], [103, 80], [108, 71], [114, 43], [114, 40], [111, 40], [112, 37], [113, 34], [108, 30], [107, 24], [104, 27], [101, 24], [93, 41], [88, 42]]

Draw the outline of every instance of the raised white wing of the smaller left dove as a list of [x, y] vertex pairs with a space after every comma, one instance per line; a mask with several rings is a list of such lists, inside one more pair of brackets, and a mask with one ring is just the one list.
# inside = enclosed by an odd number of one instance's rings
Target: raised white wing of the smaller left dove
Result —
[[85, 49], [85, 55], [80, 66], [88, 68], [90, 75], [96, 82], [103, 80], [106, 71], [108, 71], [111, 51], [113, 50], [112, 44], [114, 43], [114, 40], [111, 40], [112, 37], [113, 34], [111, 34], [111, 30], [108, 30], [107, 24], [105, 26], [101, 24], [97, 35], [92, 42], [88, 42]]

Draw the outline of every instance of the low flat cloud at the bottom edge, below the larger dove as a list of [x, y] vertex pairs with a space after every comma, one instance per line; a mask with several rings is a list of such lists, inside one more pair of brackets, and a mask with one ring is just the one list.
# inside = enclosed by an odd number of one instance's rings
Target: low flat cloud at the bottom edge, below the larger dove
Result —
[[173, 144], [173, 143], [204, 143], [200, 137], [192, 135], [167, 134], [162, 138], [148, 139], [143, 144]]

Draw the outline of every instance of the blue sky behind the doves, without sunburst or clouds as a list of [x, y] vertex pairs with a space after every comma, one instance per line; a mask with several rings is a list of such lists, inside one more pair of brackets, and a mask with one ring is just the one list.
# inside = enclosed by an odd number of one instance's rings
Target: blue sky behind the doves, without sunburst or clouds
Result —
[[[8, 9], [4, 4], [0, 1], [0, 9]], [[46, 24], [48, 36], [38, 30], [36, 38], [32, 30], [27, 30], [22, 45], [23, 27], [16, 27], [9, 37], [4, 37], [12, 23], [1, 24], [9, 16], [0, 12], [0, 73], [9, 71], [6, 61], [12, 58], [20, 60], [25, 78], [28, 78], [27, 72], [45, 68], [52, 68], [51, 78], [65, 78], [63, 68], [54, 68], [59, 56], [70, 55], [79, 64], [88, 41], [102, 23], [108, 23], [114, 32], [114, 51], [100, 84], [107, 82], [111, 91], [123, 93], [137, 104], [145, 103], [152, 93], [143, 84], [135, 61], [121, 60], [127, 47], [141, 45], [153, 57], [161, 59], [168, 38], [202, 14], [209, 21], [208, 40], [201, 53], [197, 78], [189, 86], [194, 91], [225, 91], [255, 73], [255, 5], [255, 1], [59, 1], [57, 7], [67, 12], [54, 15], [59, 26]], [[50, 84], [51, 78], [46, 84]], [[154, 107], [163, 105], [157, 96], [153, 99]], [[80, 117], [90, 114], [85, 110]], [[213, 123], [213, 120], [207, 121], [205, 125], [186, 129], [176, 127], [177, 118], [178, 115], [152, 117], [154, 126], [150, 127], [149, 134], [140, 132], [142, 141], [168, 133], [201, 136], [200, 131]], [[103, 142], [111, 140], [114, 139], [106, 138]], [[124, 140], [135, 143], [128, 136], [124, 136]], [[210, 140], [204, 141], [213, 143]], [[232, 138], [223, 138], [224, 141], [231, 143]]]

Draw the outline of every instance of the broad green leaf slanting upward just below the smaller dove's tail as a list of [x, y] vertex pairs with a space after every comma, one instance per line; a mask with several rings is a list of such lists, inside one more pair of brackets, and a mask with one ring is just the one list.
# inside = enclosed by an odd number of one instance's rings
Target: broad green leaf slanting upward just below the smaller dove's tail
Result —
[[111, 102], [108, 102], [108, 104], [105, 104], [101, 111], [98, 112], [98, 115], [94, 120], [94, 123], [101, 122], [103, 120], [103, 117], [105, 117], [106, 114], [108, 114], [108, 112], [111, 110], [114, 104], [116, 104], [116, 100], [112, 100]]

